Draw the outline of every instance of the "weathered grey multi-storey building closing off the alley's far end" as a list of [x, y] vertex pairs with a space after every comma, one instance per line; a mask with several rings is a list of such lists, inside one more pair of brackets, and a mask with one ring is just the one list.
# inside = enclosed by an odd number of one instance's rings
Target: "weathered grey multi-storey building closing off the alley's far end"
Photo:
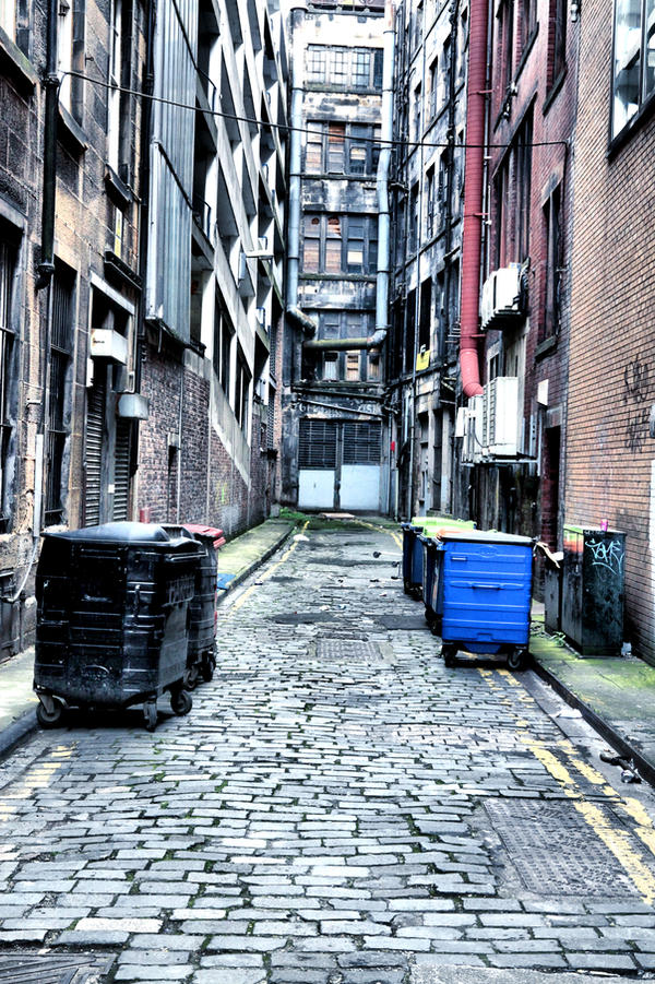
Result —
[[386, 511], [393, 24], [383, 3], [302, 4], [289, 37], [281, 499]]

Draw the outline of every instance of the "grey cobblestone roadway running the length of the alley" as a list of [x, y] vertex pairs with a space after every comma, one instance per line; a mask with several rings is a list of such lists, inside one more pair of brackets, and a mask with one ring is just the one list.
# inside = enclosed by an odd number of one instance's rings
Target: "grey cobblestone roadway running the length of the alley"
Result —
[[221, 609], [188, 718], [71, 716], [4, 762], [0, 980], [16, 949], [184, 984], [655, 969], [653, 791], [532, 673], [445, 668], [398, 556], [307, 530]]

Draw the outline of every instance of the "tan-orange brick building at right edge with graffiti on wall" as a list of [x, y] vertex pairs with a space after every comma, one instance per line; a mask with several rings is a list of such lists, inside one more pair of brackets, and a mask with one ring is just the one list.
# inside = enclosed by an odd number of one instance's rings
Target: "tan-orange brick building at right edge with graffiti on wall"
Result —
[[567, 521], [626, 532], [627, 638], [654, 662], [652, 4], [591, 0], [579, 29]]

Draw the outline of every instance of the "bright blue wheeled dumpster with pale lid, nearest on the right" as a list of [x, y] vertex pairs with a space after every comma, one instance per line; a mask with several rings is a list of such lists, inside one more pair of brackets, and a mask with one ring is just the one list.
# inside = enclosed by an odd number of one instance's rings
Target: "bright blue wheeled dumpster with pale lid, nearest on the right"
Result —
[[532, 540], [449, 530], [441, 533], [436, 556], [430, 604], [446, 666], [464, 649], [502, 653], [511, 669], [523, 668], [529, 643]]

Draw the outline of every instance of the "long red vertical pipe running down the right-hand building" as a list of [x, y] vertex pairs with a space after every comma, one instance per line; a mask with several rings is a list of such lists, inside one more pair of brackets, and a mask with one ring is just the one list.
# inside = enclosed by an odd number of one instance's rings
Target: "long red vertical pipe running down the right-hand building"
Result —
[[465, 396], [478, 396], [478, 320], [483, 240], [483, 174], [487, 84], [488, 0], [472, 0], [466, 93], [466, 154], [464, 157], [464, 229], [462, 233], [462, 305], [460, 368]]

